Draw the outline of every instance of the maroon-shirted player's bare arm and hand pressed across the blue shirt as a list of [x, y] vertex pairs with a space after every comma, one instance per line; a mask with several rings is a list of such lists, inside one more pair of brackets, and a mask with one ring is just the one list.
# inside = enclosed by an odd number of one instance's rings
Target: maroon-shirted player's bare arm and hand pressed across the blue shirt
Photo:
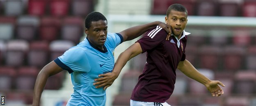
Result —
[[107, 87], [111, 86], [115, 79], [117, 79], [118, 75], [120, 74], [123, 66], [133, 57], [142, 53], [142, 48], [138, 42], [130, 46], [128, 49], [123, 51], [114, 65], [113, 71], [111, 73], [105, 73], [99, 75], [101, 78], [94, 79], [96, 81], [94, 85], [96, 88], [104, 87], [106, 90]]

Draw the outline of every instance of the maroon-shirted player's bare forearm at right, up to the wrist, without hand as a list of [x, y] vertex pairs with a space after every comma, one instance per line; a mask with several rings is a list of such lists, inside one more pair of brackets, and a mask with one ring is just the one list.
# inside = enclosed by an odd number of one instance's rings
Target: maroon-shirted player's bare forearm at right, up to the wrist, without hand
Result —
[[[181, 64], [179, 64], [181, 65]], [[182, 66], [178, 68], [182, 73], [184, 73], [187, 77], [200, 82], [203, 85], [206, 85], [210, 82], [210, 79], [204, 75], [202, 75], [196, 68], [187, 60], [184, 61]]]

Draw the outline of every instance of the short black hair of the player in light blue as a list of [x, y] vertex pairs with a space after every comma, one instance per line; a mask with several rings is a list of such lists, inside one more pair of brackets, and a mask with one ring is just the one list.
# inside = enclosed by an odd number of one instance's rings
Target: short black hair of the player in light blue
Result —
[[91, 27], [91, 22], [99, 20], [107, 21], [107, 18], [100, 12], [89, 13], [85, 18], [85, 28], [89, 29]]

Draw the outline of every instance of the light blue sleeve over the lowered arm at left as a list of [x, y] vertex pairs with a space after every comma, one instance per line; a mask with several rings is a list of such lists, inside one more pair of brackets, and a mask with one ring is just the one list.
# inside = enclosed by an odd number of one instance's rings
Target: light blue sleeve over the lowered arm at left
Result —
[[[58, 58], [63, 64], [71, 68], [72, 71], [89, 72], [91, 70], [86, 52], [80, 47], [73, 47]], [[69, 71], [69, 73], [71, 72]]]

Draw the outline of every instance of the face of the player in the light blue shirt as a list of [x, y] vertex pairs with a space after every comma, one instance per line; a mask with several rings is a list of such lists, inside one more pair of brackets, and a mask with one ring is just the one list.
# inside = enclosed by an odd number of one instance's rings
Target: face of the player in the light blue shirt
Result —
[[99, 49], [103, 48], [107, 39], [107, 21], [99, 20], [91, 22], [89, 29], [85, 28], [89, 41]]

